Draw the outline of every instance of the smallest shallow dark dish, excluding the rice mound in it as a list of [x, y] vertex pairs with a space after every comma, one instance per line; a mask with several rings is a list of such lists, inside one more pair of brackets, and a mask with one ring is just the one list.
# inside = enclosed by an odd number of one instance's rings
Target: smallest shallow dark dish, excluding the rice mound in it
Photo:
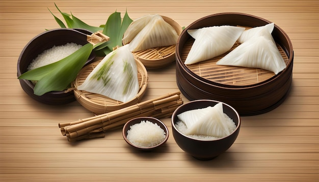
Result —
[[[135, 125], [135, 124], [138, 124], [138, 123], [141, 123], [142, 120], [145, 120], [145, 121], [148, 120], [148, 121], [151, 122], [151, 123], [157, 124], [159, 127], [161, 127], [161, 128], [164, 130], [164, 132], [166, 133], [166, 135], [165, 135], [166, 137], [164, 138], [164, 140], [163, 140], [161, 143], [159, 143], [159, 144], [157, 144], [157, 145], [155, 145], [155, 146], [151, 146], [151, 147], [141, 147], [141, 146], [137, 146], [137, 145], [131, 143], [131, 142], [126, 138], [126, 136], [127, 136], [127, 131], [130, 129], [130, 126]], [[153, 150], [153, 149], [155, 149], [155, 148], [157, 148], [157, 147], [163, 145], [163, 144], [167, 141], [168, 136], [169, 136], [168, 128], [166, 127], [166, 125], [165, 125], [163, 122], [161, 122], [161, 120], [159, 120], [159, 119], [157, 119], [157, 118], [154, 118], [154, 117], [137, 117], [137, 118], [134, 118], [134, 119], [129, 120], [129, 121], [124, 125], [123, 130], [122, 130], [122, 134], [123, 134], [124, 140], [125, 140], [130, 146], [132, 146], [132, 147], [134, 147], [134, 148], [137, 148], [137, 149], [139, 149], [139, 150]]]

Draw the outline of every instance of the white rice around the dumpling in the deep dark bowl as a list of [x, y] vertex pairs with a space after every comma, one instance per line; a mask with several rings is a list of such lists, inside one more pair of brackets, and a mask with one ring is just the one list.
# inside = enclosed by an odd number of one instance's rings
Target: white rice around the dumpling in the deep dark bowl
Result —
[[[227, 123], [227, 127], [228, 127], [228, 130], [229, 130], [229, 133], [232, 133], [236, 129], [236, 125], [233, 122], [233, 120], [227, 114], [224, 113], [224, 115], [225, 115], [225, 118], [226, 118], [225, 122]], [[189, 136], [191, 138], [195, 138], [195, 139], [216, 140], [218, 138], [221, 138], [221, 137], [208, 136], [208, 135], [188, 135], [188, 134], [185, 134], [186, 131], [187, 131], [187, 126], [181, 120], [178, 120], [176, 122], [175, 127], [176, 127], [176, 129], [178, 131], [180, 131], [180, 133], [182, 133], [184, 135], [187, 135], [187, 136]]]

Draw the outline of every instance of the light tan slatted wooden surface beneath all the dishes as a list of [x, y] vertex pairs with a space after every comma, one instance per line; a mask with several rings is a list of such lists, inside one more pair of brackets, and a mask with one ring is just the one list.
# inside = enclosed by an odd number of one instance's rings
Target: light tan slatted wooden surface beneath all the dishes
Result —
[[[218, 158], [198, 161], [170, 135], [152, 153], [131, 149], [121, 130], [105, 138], [69, 143], [58, 124], [93, 116], [77, 102], [48, 106], [26, 95], [16, 77], [23, 47], [45, 29], [58, 28], [49, 13], [63, 12], [94, 26], [127, 9], [136, 19], [157, 13], [188, 26], [206, 15], [242, 12], [280, 26], [295, 51], [293, 87], [268, 113], [242, 117], [235, 143]], [[305, 1], [1, 1], [0, 181], [318, 181], [319, 2]], [[148, 70], [143, 100], [178, 90], [175, 65]], [[188, 100], [182, 97], [186, 103]], [[170, 118], [163, 119], [171, 131]]]

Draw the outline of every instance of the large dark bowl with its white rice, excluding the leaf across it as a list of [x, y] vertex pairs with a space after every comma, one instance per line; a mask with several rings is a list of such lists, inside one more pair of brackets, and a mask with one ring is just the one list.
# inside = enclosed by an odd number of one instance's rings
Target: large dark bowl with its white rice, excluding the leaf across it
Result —
[[[87, 44], [87, 36], [92, 33], [85, 29], [56, 28], [45, 31], [32, 40], [22, 49], [17, 62], [17, 77], [21, 74], [45, 66], [72, 54], [77, 49]], [[94, 60], [92, 52], [86, 65]], [[34, 100], [48, 105], [62, 105], [75, 101], [73, 90], [66, 92], [52, 91], [42, 96], [35, 95], [34, 82], [19, 79], [24, 92]]]

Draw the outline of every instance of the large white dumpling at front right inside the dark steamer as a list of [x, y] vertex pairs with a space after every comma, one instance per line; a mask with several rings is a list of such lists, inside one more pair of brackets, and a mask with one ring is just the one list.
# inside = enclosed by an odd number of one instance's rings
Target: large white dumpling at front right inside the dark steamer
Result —
[[261, 68], [276, 75], [286, 68], [277, 46], [267, 36], [249, 39], [221, 58], [216, 65]]

